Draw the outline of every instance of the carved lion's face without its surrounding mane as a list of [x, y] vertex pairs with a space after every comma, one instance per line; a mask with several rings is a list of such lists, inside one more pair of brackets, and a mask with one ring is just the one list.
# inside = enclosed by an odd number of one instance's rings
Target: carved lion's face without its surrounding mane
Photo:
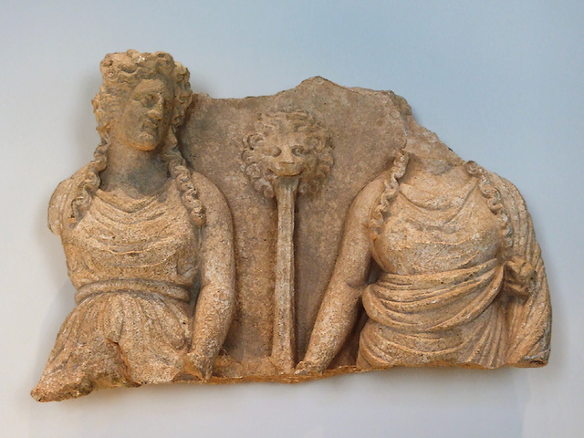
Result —
[[257, 132], [249, 139], [258, 163], [277, 177], [300, 176], [314, 167], [317, 139], [305, 132]]

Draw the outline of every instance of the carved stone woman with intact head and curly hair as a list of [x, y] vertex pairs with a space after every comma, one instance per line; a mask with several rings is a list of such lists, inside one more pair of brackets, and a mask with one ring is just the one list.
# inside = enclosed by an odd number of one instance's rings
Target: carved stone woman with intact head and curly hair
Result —
[[130, 50], [101, 72], [95, 159], [49, 205], [78, 291], [32, 392], [39, 401], [184, 373], [207, 380], [235, 306], [231, 215], [177, 145], [188, 70]]

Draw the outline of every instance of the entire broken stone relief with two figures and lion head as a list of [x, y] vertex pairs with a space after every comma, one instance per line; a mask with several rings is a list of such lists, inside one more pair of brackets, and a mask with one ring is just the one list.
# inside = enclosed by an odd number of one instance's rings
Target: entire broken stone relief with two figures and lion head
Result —
[[49, 205], [78, 292], [36, 400], [547, 363], [525, 203], [401, 97], [322, 78], [193, 96], [160, 52], [111, 54], [101, 71], [102, 141]]

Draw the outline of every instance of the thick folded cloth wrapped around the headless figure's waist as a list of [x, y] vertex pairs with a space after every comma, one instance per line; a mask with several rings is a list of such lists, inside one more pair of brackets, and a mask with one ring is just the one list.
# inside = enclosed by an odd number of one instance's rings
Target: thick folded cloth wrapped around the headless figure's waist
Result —
[[[471, 363], [499, 366], [506, 322], [495, 300], [504, 279], [496, 259], [435, 274], [384, 274], [363, 293], [369, 316], [358, 366]], [[464, 327], [464, 330], [460, 329]]]

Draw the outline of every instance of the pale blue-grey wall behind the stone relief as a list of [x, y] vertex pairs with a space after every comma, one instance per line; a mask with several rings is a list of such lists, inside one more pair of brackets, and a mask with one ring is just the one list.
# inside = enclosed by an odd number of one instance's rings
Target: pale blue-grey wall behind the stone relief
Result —
[[[11, 2], [0, 5], [3, 436], [581, 436], [584, 430], [584, 3]], [[98, 143], [108, 52], [164, 50], [215, 98], [319, 75], [392, 89], [464, 159], [516, 183], [554, 310], [539, 370], [390, 370], [286, 386], [166, 385], [39, 404], [73, 306], [46, 227], [57, 183]]]

